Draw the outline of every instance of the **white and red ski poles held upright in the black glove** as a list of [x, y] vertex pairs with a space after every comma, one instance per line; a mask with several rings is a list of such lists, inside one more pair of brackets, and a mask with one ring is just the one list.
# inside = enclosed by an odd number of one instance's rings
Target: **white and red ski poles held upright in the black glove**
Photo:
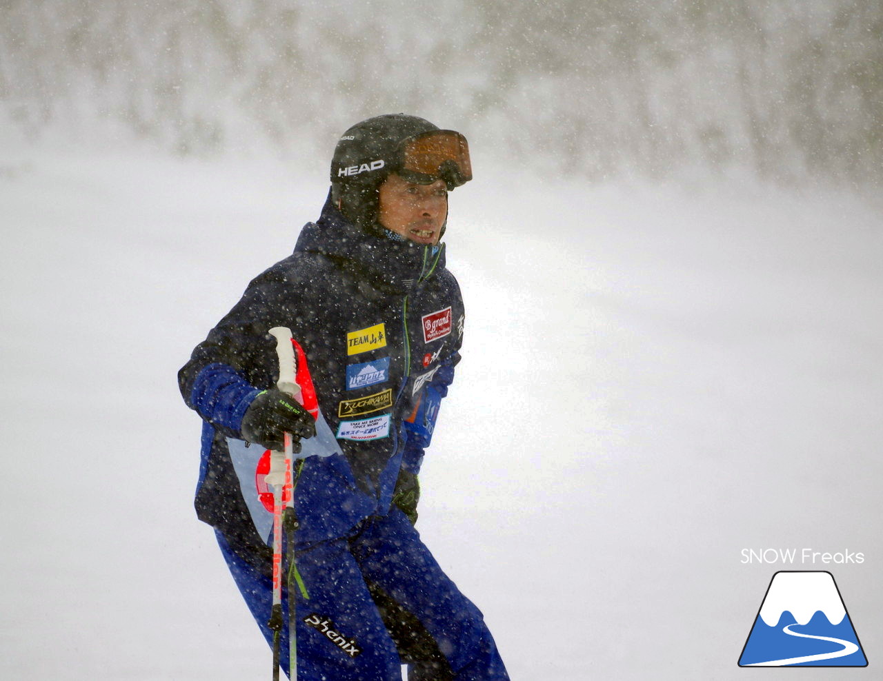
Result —
[[[303, 401], [300, 386], [295, 381], [294, 347], [291, 345], [291, 329], [285, 326], [274, 326], [269, 331], [276, 340], [276, 356], [279, 359], [279, 379], [276, 387], [283, 393]], [[291, 459], [294, 455], [291, 433], [283, 435], [283, 452], [270, 453], [270, 472], [266, 477], [268, 487], [273, 489], [273, 605], [267, 623], [273, 633], [273, 681], [279, 681], [280, 639], [283, 628], [282, 616], [282, 537], [283, 509], [293, 505], [291, 498]], [[294, 608], [294, 599], [289, 594], [289, 608]], [[291, 618], [291, 617], [290, 617]], [[294, 632], [289, 632], [289, 638]], [[293, 640], [290, 641], [294, 649]], [[296, 659], [289, 659], [289, 678], [298, 677]]]

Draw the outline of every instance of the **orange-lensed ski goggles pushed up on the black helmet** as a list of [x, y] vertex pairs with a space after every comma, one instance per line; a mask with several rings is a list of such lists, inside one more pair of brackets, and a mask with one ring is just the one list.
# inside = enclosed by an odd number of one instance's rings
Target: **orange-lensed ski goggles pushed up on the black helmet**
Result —
[[429, 184], [442, 178], [452, 190], [472, 179], [469, 145], [459, 132], [421, 132], [404, 139], [399, 153], [398, 174], [410, 182]]

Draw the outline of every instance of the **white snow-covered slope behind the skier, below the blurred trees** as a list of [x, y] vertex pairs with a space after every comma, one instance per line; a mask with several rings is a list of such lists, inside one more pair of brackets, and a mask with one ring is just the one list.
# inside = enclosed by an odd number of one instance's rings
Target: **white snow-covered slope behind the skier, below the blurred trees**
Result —
[[[834, 572], [873, 659], [879, 203], [475, 167], [451, 195], [464, 358], [419, 528], [511, 677], [741, 678], [789, 567]], [[0, 153], [0, 677], [269, 676], [192, 510], [176, 374], [326, 189], [279, 161]], [[864, 563], [743, 564], [766, 547]]]

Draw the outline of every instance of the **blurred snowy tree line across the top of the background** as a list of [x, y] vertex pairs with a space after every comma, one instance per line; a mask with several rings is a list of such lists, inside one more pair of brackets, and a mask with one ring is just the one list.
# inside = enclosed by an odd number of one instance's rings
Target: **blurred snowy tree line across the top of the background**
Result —
[[883, 3], [0, 0], [0, 112], [31, 137], [123, 129], [324, 163], [394, 110], [595, 179], [879, 183]]

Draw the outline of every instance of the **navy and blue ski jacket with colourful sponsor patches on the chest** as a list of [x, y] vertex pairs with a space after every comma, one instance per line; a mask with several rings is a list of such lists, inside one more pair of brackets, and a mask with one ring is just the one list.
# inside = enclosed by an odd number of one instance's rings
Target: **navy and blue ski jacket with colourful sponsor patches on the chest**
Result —
[[303, 443], [322, 456], [306, 459], [295, 493], [298, 543], [310, 543], [389, 513], [400, 468], [419, 472], [463, 325], [443, 244], [366, 234], [328, 201], [294, 253], [249, 284], [178, 374], [204, 421], [200, 519], [231, 543], [266, 550], [271, 515], [254, 473], [263, 448], [243, 441], [240, 424], [278, 378], [270, 328], [291, 328], [304, 348], [327, 423]]

